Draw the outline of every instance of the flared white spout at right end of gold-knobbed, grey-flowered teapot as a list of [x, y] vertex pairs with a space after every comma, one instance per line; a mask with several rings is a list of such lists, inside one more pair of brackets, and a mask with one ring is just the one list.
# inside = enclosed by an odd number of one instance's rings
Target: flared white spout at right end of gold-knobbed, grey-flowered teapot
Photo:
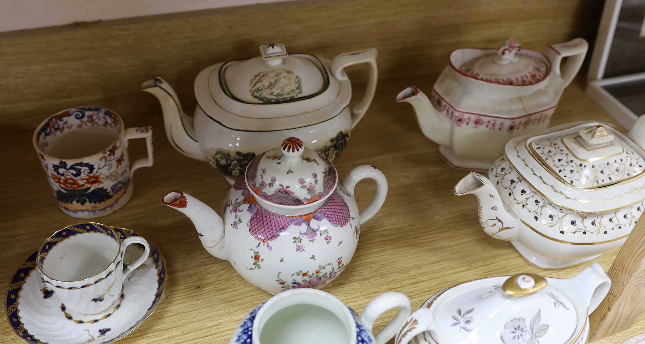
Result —
[[591, 264], [591, 267], [576, 276], [564, 280], [554, 279], [549, 283], [564, 292], [573, 301], [576, 309], [589, 307], [590, 314], [604, 300], [611, 287], [611, 279], [599, 263]]

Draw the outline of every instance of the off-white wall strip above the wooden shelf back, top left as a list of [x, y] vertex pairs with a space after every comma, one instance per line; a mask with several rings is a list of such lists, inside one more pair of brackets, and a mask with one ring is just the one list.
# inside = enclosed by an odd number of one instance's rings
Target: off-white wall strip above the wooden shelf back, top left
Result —
[[289, 0], [0, 0], [0, 32]]

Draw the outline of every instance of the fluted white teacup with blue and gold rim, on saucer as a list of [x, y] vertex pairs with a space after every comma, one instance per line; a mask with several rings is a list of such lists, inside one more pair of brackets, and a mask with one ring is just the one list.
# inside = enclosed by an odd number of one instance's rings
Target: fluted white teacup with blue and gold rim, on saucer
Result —
[[[143, 245], [144, 253], [124, 267], [125, 250], [135, 243]], [[54, 292], [63, 302], [61, 311], [74, 320], [70, 313], [95, 315], [119, 309], [123, 280], [149, 254], [150, 245], [142, 236], [121, 242], [112, 227], [88, 222], [64, 227], [47, 238], [38, 250], [36, 269], [43, 293]]]

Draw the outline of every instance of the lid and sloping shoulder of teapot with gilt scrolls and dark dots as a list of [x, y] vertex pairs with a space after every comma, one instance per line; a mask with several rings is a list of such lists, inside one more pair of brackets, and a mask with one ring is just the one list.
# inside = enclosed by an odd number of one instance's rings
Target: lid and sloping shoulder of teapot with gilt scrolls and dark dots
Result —
[[574, 122], [511, 139], [504, 156], [552, 204], [592, 213], [645, 199], [645, 151], [610, 124]]

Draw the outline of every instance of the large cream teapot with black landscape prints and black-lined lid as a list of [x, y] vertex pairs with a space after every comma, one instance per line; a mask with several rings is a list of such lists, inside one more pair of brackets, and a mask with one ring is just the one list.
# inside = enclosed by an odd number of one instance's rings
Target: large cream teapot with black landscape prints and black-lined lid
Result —
[[[163, 110], [166, 136], [187, 157], [208, 161], [233, 184], [269, 142], [300, 137], [307, 148], [334, 160], [372, 103], [377, 82], [374, 48], [342, 53], [333, 61], [288, 54], [284, 44], [260, 46], [260, 56], [213, 64], [195, 79], [197, 107], [187, 116], [160, 77], [144, 82]], [[349, 110], [352, 84], [344, 68], [368, 62], [362, 101]]]

